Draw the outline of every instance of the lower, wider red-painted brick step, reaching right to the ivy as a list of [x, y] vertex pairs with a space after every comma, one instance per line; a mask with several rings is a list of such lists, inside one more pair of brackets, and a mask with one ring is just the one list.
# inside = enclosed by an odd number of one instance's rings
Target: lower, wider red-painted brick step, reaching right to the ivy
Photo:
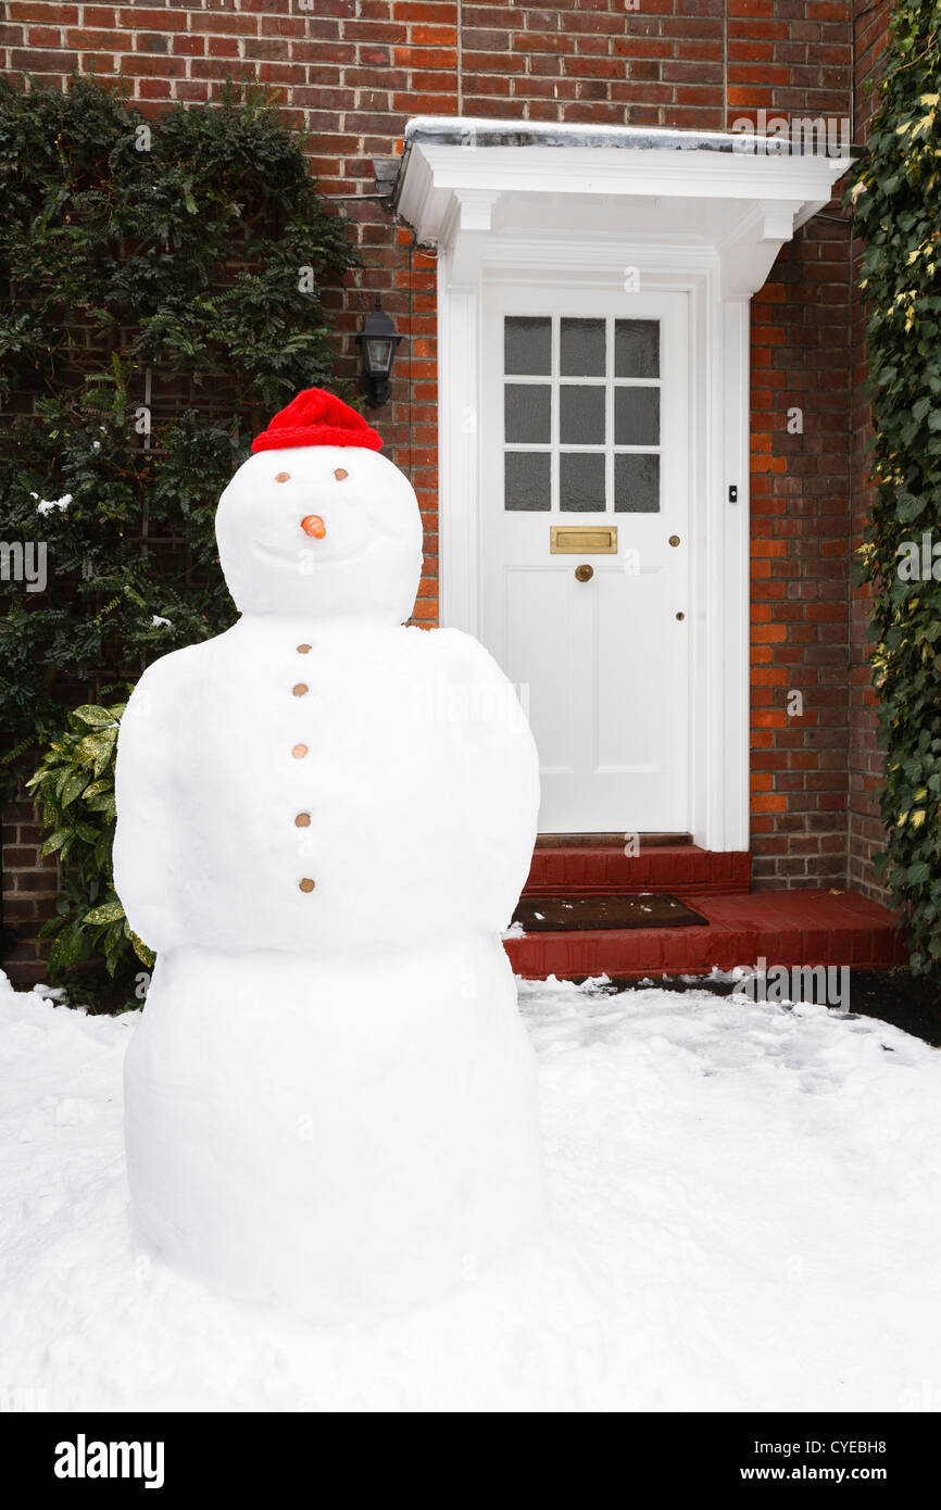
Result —
[[527, 933], [504, 941], [518, 975], [701, 975], [767, 965], [849, 965], [888, 969], [903, 963], [896, 917], [853, 891], [690, 892], [681, 895], [707, 918], [702, 927], [597, 929]]

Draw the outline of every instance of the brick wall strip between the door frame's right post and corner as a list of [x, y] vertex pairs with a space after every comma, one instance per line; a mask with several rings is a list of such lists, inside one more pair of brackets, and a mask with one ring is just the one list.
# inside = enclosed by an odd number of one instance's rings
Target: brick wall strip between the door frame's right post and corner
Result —
[[[850, 350], [847, 230], [835, 214], [782, 249], [752, 304], [751, 355], [752, 880], [838, 886]], [[793, 409], [804, 433], [788, 433]]]

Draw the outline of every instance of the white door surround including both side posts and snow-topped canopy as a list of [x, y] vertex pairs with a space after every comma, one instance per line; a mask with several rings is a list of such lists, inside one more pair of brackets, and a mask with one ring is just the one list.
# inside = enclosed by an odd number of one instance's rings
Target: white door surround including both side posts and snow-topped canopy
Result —
[[[453, 122], [450, 122], [453, 125]], [[406, 130], [399, 210], [438, 246], [438, 439], [441, 622], [480, 622], [482, 304], [489, 278], [624, 290], [681, 290], [690, 310], [690, 814], [708, 850], [749, 844], [749, 299], [794, 228], [829, 201], [847, 162], [734, 156], [740, 137], [710, 133], [677, 149], [630, 127], [606, 145], [476, 146], [506, 122], [418, 118]], [[509, 122], [520, 128], [520, 122]], [[545, 128], [550, 131], [550, 128]], [[471, 149], [464, 148], [471, 137]], [[489, 133], [489, 134], [488, 134]], [[498, 134], [498, 133], [497, 133]], [[692, 139], [687, 139], [692, 140]], [[625, 149], [634, 148], [634, 149]], [[569, 204], [565, 230], [520, 230], [508, 205]], [[598, 233], [588, 205], [666, 207], [666, 234]], [[656, 198], [651, 198], [656, 196]], [[538, 214], [538, 210], [536, 210]], [[669, 216], [669, 217], [668, 217]], [[526, 219], [526, 217], [523, 217]], [[530, 217], [532, 220], [532, 217]], [[639, 223], [643, 214], [639, 216]], [[514, 230], [514, 225], [517, 228]], [[578, 230], [585, 225], [585, 230]], [[509, 226], [509, 230], [508, 230]], [[571, 226], [571, 228], [569, 228]], [[733, 498], [734, 489], [734, 498]]]

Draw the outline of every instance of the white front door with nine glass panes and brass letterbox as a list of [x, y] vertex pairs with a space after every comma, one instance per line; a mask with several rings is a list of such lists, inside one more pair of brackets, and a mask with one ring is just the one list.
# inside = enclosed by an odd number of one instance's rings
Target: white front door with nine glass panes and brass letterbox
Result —
[[687, 832], [687, 297], [489, 287], [482, 334], [482, 639], [539, 829]]

